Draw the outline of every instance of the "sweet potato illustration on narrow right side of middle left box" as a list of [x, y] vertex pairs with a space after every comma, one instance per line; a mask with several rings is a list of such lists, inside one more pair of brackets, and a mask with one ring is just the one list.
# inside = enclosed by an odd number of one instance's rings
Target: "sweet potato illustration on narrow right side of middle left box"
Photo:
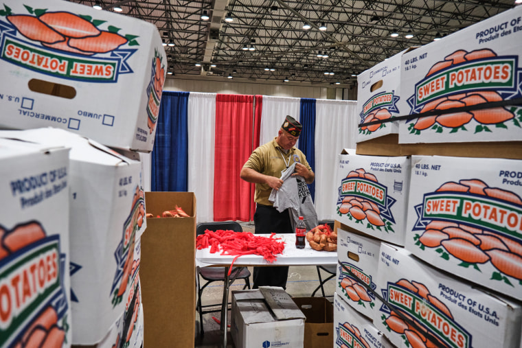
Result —
[[132, 279], [133, 269], [136, 267], [136, 265], [133, 264], [135, 235], [139, 227], [141, 227], [141, 224], [143, 224], [144, 217], [144, 192], [143, 189], [137, 185], [131, 205], [131, 214], [124, 223], [122, 242], [120, 242], [120, 245], [118, 245], [115, 251], [117, 268], [111, 288], [111, 297], [114, 306], [122, 301], [127, 290], [128, 281]]

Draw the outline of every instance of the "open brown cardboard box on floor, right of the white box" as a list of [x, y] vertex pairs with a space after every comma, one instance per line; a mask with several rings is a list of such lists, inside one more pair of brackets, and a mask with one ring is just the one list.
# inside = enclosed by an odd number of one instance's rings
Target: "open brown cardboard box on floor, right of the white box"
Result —
[[324, 297], [293, 297], [306, 316], [304, 348], [331, 348], [334, 343], [334, 307]]

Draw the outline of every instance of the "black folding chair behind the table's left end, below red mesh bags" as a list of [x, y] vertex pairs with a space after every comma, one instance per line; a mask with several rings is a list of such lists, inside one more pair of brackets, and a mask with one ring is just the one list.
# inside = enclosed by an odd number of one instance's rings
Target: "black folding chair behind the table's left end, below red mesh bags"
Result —
[[[225, 230], [225, 231], [234, 231], [234, 232], [242, 232], [243, 229], [238, 222], [235, 221], [225, 221], [225, 222], [202, 222], [196, 226], [196, 235], [201, 235], [205, 233], [206, 230], [217, 231], [217, 230]], [[200, 287], [201, 278], [203, 278], [206, 283]], [[231, 278], [244, 279], [245, 286], [243, 290], [246, 288], [250, 288], [250, 271], [246, 267], [233, 267], [231, 271]], [[196, 304], [196, 310], [199, 313], [199, 328], [200, 334], [203, 336], [205, 332], [203, 331], [203, 314], [220, 312], [223, 310], [228, 310], [224, 308], [223, 303], [214, 303], [211, 305], [203, 305], [201, 303], [201, 297], [203, 297], [203, 290], [214, 281], [225, 281], [225, 267], [198, 267], [196, 266], [196, 286], [198, 288], [198, 303]], [[205, 310], [205, 308], [220, 306], [219, 309], [210, 309]]]

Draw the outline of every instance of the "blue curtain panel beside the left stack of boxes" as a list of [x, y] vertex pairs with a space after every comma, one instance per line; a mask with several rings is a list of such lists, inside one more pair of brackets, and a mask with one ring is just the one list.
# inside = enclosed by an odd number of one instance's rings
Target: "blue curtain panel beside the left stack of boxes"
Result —
[[152, 149], [152, 191], [188, 190], [189, 92], [163, 91]]

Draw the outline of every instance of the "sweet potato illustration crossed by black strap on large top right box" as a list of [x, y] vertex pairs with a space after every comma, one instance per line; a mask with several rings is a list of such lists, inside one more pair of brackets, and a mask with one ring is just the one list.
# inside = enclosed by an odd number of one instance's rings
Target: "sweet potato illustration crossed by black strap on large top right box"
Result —
[[[517, 56], [497, 56], [491, 49], [457, 49], [435, 63], [409, 98], [411, 113], [456, 109], [454, 113], [428, 115], [410, 121], [410, 134], [430, 128], [441, 133], [494, 132], [498, 128], [521, 128], [520, 105], [484, 108], [480, 104], [517, 99]], [[468, 108], [466, 107], [473, 107]], [[464, 109], [463, 109], [464, 108]]]

